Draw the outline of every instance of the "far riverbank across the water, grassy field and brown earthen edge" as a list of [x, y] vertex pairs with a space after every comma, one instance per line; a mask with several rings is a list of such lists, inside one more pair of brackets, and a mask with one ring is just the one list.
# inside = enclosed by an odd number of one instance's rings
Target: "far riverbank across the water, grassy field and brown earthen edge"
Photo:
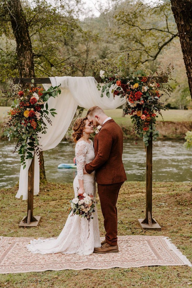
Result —
[[[5, 112], [10, 107], [0, 107], [0, 139], [6, 139], [2, 129], [7, 118], [4, 118]], [[87, 110], [84, 109], [82, 116], [84, 117]], [[113, 118], [122, 128], [124, 139], [134, 139], [132, 131], [132, 123], [130, 115], [122, 117], [122, 109], [105, 110], [105, 113]], [[185, 133], [192, 130], [192, 110], [174, 110], [162, 111], [164, 121], [161, 116], [157, 118], [157, 130], [159, 131], [158, 139], [184, 139]], [[71, 132], [68, 131], [64, 136], [64, 140], [70, 140]]]

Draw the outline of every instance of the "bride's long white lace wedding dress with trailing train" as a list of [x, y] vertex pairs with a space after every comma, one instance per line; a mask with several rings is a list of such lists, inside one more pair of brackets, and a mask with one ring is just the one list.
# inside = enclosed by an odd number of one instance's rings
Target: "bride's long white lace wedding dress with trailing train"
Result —
[[[91, 162], [95, 157], [93, 142], [90, 142], [79, 141], [75, 146], [77, 162], [77, 175], [73, 181], [75, 196], [77, 196], [77, 187], [79, 187], [78, 178], [83, 179], [87, 194], [94, 196], [96, 194], [95, 172], [83, 175], [84, 164]], [[97, 207], [95, 207], [93, 219], [90, 220], [90, 236], [88, 237], [88, 235], [88, 220], [79, 215], [71, 216], [70, 213], [58, 238], [34, 239], [26, 248], [32, 253], [40, 254], [62, 252], [64, 254], [90, 255], [93, 253], [94, 247], [101, 246]]]

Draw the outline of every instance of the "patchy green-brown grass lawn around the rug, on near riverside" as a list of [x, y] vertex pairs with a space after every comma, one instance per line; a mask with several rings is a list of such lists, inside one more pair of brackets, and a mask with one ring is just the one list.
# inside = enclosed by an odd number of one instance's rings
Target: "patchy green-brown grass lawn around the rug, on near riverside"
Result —
[[[172, 239], [192, 262], [192, 183], [153, 182], [153, 217], [162, 231], [142, 231], [137, 219], [145, 217], [145, 183], [125, 182], [118, 198], [119, 235], [163, 235]], [[60, 234], [67, 218], [64, 208], [73, 197], [72, 184], [48, 183], [34, 197], [34, 215], [41, 215], [36, 228], [19, 228], [26, 214], [26, 201], [15, 198], [17, 188], [1, 190], [1, 236], [52, 237]], [[98, 202], [100, 236], [104, 236], [103, 218]], [[192, 287], [192, 269], [188, 266], [151, 266], [107, 270], [63, 270], [0, 274], [2, 288], [120, 288], [120, 287]]]

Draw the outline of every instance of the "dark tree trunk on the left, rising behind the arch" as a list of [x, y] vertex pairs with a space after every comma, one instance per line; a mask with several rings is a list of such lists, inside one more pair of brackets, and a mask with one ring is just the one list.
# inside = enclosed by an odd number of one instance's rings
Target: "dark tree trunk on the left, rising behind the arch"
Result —
[[[20, 0], [7, 1], [8, 13], [16, 41], [19, 77], [35, 77], [33, 50], [28, 31], [28, 23]], [[40, 152], [40, 182], [47, 182], [43, 152]]]

